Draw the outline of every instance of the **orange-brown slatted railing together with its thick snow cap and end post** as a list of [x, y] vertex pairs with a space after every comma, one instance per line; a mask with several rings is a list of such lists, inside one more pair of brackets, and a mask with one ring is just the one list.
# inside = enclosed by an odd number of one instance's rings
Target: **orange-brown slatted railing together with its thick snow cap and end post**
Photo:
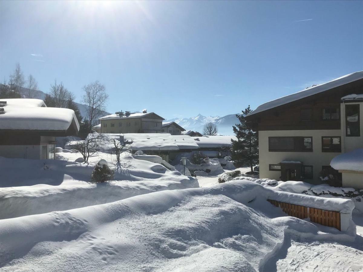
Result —
[[311, 195], [274, 191], [267, 201], [297, 218], [310, 218], [311, 222], [348, 231], [352, 223], [354, 201], [343, 198], [323, 198]]

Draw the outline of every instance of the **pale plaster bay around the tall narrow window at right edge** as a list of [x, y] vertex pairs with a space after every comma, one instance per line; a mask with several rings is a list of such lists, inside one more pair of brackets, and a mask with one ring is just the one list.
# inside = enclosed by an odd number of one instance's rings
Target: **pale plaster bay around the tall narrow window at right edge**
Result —
[[[359, 104], [360, 137], [347, 137], [345, 135], [345, 105]], [[342, 152], [347, 153], [357, 148], [363, 148], [363, 102], [340, 103], [340, 124], [342, 131]]]

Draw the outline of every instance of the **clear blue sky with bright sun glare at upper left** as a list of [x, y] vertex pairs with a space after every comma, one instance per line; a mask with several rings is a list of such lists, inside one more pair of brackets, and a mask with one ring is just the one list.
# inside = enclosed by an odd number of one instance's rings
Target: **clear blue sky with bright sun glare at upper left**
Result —
[[0, 78], [19, 62], [38, 87], [107, 111], [166, 119], [241, 112], [363, 70], [363, 1], [0, 1]]

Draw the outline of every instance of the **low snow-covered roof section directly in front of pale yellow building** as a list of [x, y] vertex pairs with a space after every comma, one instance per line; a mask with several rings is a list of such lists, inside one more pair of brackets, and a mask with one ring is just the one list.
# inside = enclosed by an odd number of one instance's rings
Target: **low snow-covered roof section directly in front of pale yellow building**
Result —
[[175, 139], [169, 133], [125, 133], [124, 140], [132, 140], [131, 148], [133, 151], [179, 150]]

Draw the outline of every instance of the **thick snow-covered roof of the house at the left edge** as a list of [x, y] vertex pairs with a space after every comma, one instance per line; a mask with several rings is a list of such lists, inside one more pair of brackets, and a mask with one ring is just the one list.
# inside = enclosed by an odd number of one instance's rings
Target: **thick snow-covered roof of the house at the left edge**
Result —
[[40, 99], [0, 99], [6, 101], [5, 113], [0, 114], [0, 129], [66, 131], [72, 122], [79, 130], [77, 117], [67, 108], [46, 107]]

